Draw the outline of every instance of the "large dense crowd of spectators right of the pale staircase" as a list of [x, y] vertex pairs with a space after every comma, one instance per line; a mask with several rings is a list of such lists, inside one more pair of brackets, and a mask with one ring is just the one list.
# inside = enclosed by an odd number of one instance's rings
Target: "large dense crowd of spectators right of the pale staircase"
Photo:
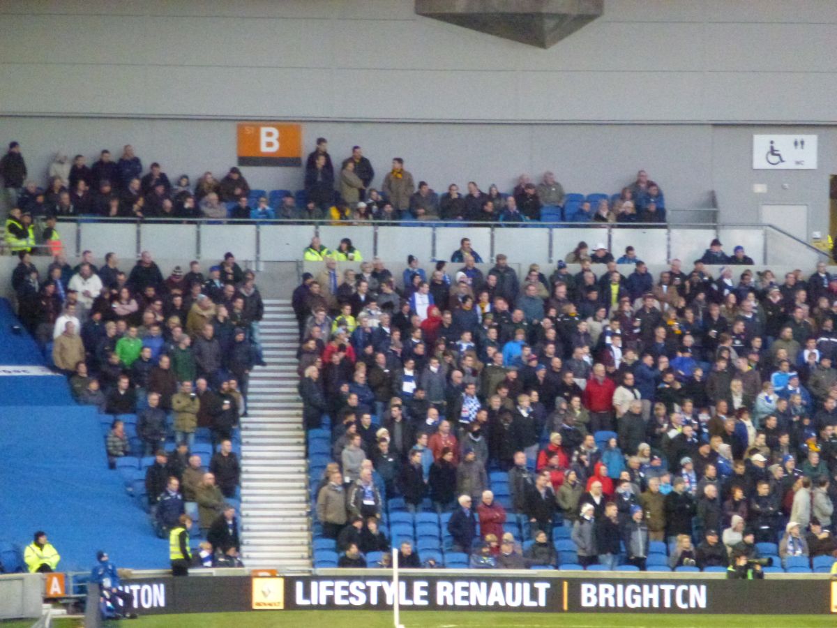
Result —
[[751, 260], [719, 241], [658, 281], [625, 255], [628, 276], [584, 243], [577, 274], [497, 255], [484, 275], [463, 239], [456, 266], [410, 255], [396, 277], [340, 274], [314, 239], [293, 306], [309, 447], [331, 459], [318, 536], [365, 564], [406, 510], [472, 567], [837, 556], [837, 276], [733, 278]]

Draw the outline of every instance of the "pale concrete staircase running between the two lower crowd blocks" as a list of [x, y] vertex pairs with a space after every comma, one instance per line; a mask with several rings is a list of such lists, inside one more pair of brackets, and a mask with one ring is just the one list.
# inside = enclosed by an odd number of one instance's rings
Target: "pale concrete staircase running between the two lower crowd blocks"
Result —
[[296, 392], [299, 330], [290, 301], [264, 300], [266, 367], [250, 375], [241, 420], [242, 554], [249, 568], [310, 569], [305, 431]]

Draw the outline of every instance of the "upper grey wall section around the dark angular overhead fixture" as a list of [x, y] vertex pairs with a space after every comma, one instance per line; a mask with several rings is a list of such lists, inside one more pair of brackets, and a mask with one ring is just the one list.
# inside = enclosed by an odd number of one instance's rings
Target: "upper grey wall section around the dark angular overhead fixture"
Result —
[[823, 0], [609, 0], [548, 50], [419, 18], [412, 0], [5, 0], [0, 16], [0, 111], [16, 113], [837, 117], [837, 3]]

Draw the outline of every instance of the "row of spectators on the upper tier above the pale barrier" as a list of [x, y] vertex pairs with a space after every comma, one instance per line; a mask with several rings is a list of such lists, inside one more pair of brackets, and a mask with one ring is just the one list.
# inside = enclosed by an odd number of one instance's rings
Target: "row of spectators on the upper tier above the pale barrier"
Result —
[[[660, 186], [644, 170], [636, 180], [612, 196], [564, 193], [552, 172], [540, 183], [524, 174], [512, 193], [494, 184], [487, 192], [477, 183], [460, 192], [450, 183], [447, 192], [436, 193], [426, 181], [416, 181], [401, 157], [380, 188], [372, 188], [375, 170], [362, 147], [352, 148], [336, 170], [326, 138], [317, 138], [316, 149], [306, 160], [305, 186], [288, 190], [250, 188], [238, 167], [223, 178], [204, 172], [193, 182], [188, 175], [169, 178], [162, 165], [152, 162], [146, 172], [133, 147], [126, 145], [116, 159], [100, 152], [89, 166], [84, 155], [72, 160], [59, 152], [49, 165], [45, 181], [28, 173], [18, 142], [9, 144], [0, 159], [0, 178], [7, 193], [10, 214], [7, 244], [12, 252], [34, 245], [56, 246], [55, 225], [49, 219], [101, 216], [112, 219], [316, 219], [362, 223], [368, 220], [460, 220], [467, 222], [521, 223], [528, 220], [567, 220], [601, 223], [665, 223], [665, 198]], [[50, 229], [49, 231], [47, 229]], [[56, 232], [57, 233], [57, 232]], [[53, 243], [53, 244], [50, 244]], [[53, 251], [53, 253], [56, 251]]]

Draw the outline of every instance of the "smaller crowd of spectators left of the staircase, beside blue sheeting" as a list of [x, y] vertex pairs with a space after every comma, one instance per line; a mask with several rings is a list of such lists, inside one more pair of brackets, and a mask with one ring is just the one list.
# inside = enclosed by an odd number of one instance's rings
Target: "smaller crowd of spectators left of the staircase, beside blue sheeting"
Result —
[[[69, 378], [74, 399], [112, 415], [110, 467], [126, 456], [154, 456], [145, 489], [157, 534], [165, 537], [187, 513], [221, 550], [216, 564], [234, 562], [238, 532], [229, 533], [234, 507], [225, 503], [239, 486], [232, 440], [247, 411], [249, 373], [263, 363], [264, 302], [254, 272], [232, 253], [206, 275], [192, 261], [167, 277], [147, 252], [128, 272], [112, 252], [101, 266], [91, 251], [74, 267], [59, 254], [45, 276], [27, 252], [18, 257], [18, 317]], [[208, 468], [193, 452], [201, 431], [213, 451]]]

